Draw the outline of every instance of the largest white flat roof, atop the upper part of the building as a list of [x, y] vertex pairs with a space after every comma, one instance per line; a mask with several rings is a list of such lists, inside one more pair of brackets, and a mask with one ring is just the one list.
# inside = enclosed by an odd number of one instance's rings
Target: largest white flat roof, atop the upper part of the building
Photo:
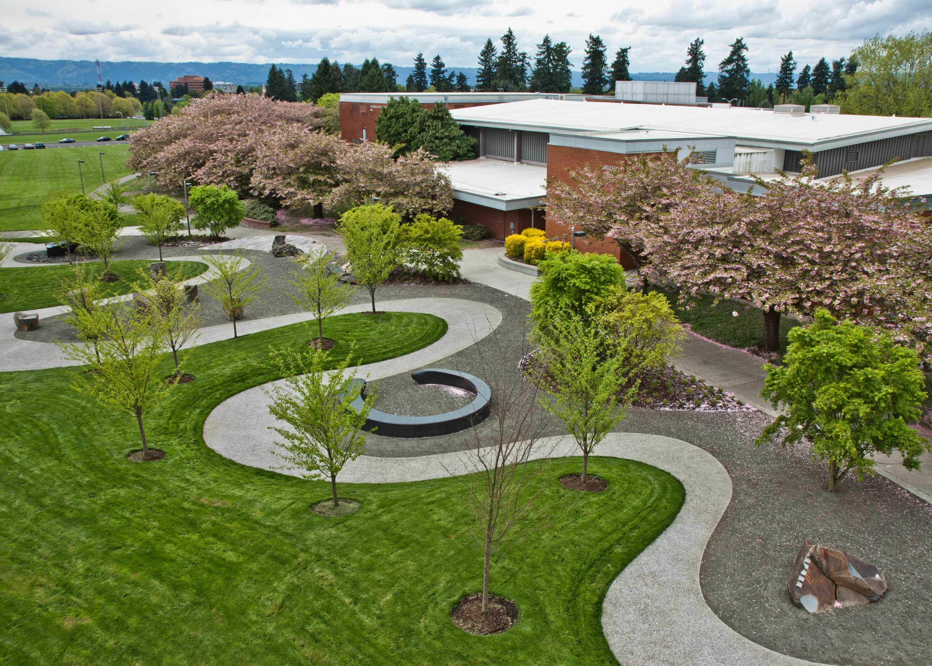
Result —
[[450, 112], [464, 125], [530, 132], [619, 132], [632, 129], [734, 136], [742, 145], [826, 150], [912, 132], [932, 131], [932, 118], [804, 114], [753, 108], [571, 102], [535, 99]]

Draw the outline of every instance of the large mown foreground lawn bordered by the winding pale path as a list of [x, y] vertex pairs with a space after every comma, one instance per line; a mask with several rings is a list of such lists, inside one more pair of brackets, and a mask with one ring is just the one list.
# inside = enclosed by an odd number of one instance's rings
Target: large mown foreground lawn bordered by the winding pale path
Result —
[[[442, 320], [401, 312], [324, 328], [335, 357], [355, 341], [363, 362], [445, 332]], [[448, 618], [482, 580], [459, 480], [343, 484], [362, 508], [327, 519], [308, 510], [326, 483], [204, 445], [215, 405], [275, 379], [268, 347], [311, 334], [286, 326], [197, 348], [185, 368], [197, 380], [147, 419], [167, 457], [143, 465], [125, 458], [139, 447], [133, 420], [68, 388], [79, 370], [0, 374], [0, 654], [56, 665], [615, 663], [601, 599], [676, 516], [678, 480], [594, 459], [609, 490], [580, 496], [493, 570], [492, 590], [517, 601], [518, 624], [468, 635]], [[544, 500], [569, 493], [556, 479], [579, 466], [555, 462]]]

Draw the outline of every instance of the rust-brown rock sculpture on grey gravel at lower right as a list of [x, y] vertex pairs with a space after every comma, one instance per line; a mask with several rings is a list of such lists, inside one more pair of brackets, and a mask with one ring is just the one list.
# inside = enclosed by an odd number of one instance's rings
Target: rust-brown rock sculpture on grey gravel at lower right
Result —
[[806, 541], [789, 574], [789, 598], [810, 613], [876, 602], [886, 580], [867, 562], [843, 550]]

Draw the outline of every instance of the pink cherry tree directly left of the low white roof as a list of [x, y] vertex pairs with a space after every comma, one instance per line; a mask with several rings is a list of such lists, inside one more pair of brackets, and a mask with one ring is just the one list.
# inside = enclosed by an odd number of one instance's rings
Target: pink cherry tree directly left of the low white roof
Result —
[[453, 186], [434, 167], [432, 155], [416, 150], [392, 159], [390, 146], [365, 143], [337, 156], [339, 185], [331, 205], [363, 205], [375, 198], [395, 213], [444, 215], [453, 208]]

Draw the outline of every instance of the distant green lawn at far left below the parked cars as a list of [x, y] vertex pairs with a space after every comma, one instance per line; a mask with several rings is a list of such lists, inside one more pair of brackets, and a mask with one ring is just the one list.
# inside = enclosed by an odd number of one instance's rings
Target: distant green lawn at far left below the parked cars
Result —
[[84, 173], [84, 187], [90, 192], [101, 187], [101, 162], [107, 179], [124, 176], [128, 146], [81, 146], [52, 150], [0, 152], [0, 231], [41, 229], [40, 206], [49, 192], [81, 191], [77, 160]]

